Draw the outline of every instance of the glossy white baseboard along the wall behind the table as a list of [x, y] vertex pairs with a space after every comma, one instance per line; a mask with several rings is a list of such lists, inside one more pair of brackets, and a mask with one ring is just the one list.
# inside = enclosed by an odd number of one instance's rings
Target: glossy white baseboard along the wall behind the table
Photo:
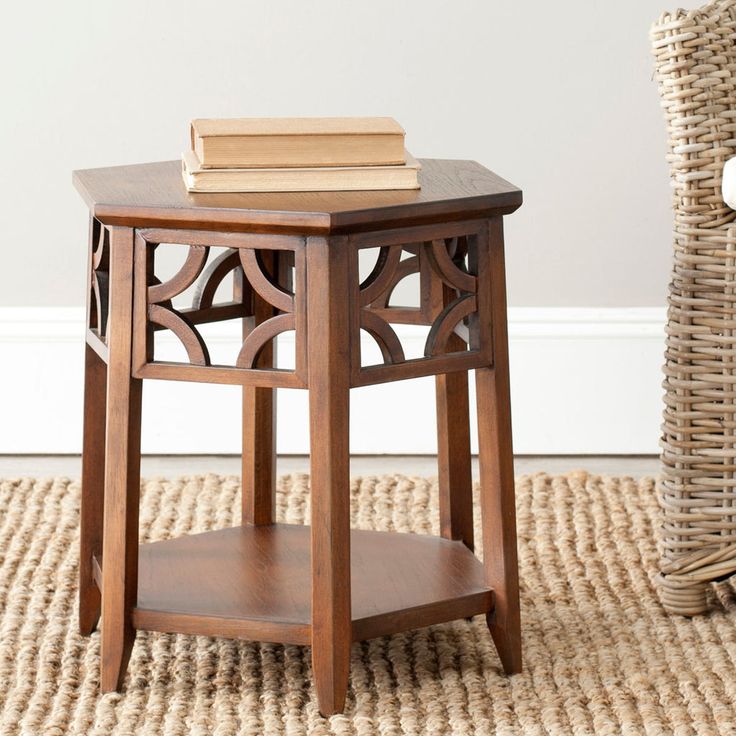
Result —
[[[657, 452], [664, 320], [661, 308], [512, 308], [515, 451]], [[0, 454], [80, 451], [83, 322], [80, 308], [0, 308]], [[397, 332], [408, 354], [423, 345], [421, 330]], [[208, 344], [234, 355], [237, 332], [211, 325]], [[278, 402], [279, 452], [306, 453], [307, 393]], [[351, 413], [355, 454], [436, 451], [431, 378], [356, 389]], [[240, 389], [146, 382], [143, 422], [146, 453], [237, 453]]]

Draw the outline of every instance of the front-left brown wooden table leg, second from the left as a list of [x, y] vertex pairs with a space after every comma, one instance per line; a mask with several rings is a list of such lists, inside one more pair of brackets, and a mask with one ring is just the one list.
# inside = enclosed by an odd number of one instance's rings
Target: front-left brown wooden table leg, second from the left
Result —
[[103, 692], [120, 688], [135, 640], [142, 382], [131, 377], [133, 230], [111, 228], [102, 554]]

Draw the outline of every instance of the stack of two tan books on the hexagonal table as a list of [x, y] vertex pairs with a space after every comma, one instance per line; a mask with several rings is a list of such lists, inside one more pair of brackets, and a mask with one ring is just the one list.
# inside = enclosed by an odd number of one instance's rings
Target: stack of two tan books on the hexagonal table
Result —
[[236, 118], [191, 123], [190, 192], [418, 189], [393, 118]]

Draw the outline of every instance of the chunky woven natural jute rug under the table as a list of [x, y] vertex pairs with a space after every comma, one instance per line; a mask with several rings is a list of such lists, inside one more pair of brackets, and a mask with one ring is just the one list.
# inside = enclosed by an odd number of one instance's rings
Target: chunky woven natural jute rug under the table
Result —
[[[144, 540], [237, 518], [237, 478], [144, 485]], [[304, 520], [308, 490], [280, 481], [282, 521]], [[0, 734], [736, 733], [736, 596], [663, 612], [653, 481], [534, 475], [517, 492], [523, 674], [503, 674], [482, 617], [376, 639], [353, 646], [346, 712], [324, 719], [306, 647], [140, 632], [124, 691], [100, 696], [99, 634], [76, 630], [79, 486], [2, 482]], [[351, 494], [356, 527], [437, 532], [432, 480]]]

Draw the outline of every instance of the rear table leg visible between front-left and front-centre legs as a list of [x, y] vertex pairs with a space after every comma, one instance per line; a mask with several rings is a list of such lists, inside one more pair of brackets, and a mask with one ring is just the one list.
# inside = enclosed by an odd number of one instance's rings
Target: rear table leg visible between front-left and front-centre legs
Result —
[[[264, 256], [269, 258], [268, 256]], [[269, 258], [269, 262], [273, 261]], [[274, 308], [253, 295], [252, 317], [243, 322], [243, 338], [274, 315]], [[276, 345], [266, 345], [258, 366], [275, 365]], [[272, 524], [276, 513], [276, 389], [243, 386], [242, 523]]]

